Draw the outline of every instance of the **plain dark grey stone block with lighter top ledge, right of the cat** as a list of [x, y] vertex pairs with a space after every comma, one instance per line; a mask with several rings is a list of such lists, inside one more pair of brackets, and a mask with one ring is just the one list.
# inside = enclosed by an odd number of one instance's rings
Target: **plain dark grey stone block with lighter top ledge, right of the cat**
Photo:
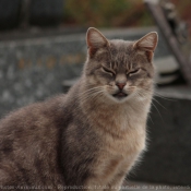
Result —
[[147, 152], [133, 179], [191, 186], [191, 87], [159, 89], [148, 119]]

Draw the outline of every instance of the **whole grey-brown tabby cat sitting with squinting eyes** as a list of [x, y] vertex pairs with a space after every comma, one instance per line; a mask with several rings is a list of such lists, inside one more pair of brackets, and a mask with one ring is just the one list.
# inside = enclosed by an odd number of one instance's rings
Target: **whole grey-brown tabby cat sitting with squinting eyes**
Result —
[[0, 190], [119, 190], [145, 148], [157, 39], [108, 40], [88, 28], [68, 94], [0, 121]]

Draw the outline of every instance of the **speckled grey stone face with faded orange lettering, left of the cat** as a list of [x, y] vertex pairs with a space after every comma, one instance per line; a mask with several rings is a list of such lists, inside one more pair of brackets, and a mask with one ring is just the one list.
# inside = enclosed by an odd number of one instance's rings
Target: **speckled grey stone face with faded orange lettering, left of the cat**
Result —
[[[33, 44], [34, 43], [34, 44]], [[63, 79], [81, 73], [84, 43], [0, 45], [0, 116], [62, 92]], [[39, 44], [38, 44], [39, 43]], [[33, 45], [32, 45], [33, 44]]]

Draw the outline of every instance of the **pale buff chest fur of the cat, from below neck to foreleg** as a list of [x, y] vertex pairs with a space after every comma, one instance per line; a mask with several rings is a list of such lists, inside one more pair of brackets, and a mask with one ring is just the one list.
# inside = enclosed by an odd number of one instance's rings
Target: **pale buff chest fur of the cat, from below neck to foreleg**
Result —
[[121, 186], [126, 175], [145, 148], [145, 108], [136, 110], [127, 106], [112, 110], [103, 108], [102, 111], [94, 112], [92, 119], [103, 145], [92, 169], [94, 178], [87, 181], [88, 186]]

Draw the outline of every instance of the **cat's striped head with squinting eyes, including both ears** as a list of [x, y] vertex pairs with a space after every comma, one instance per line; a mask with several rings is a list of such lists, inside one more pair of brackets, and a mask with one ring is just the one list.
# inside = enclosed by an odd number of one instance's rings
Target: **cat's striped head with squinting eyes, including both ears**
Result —
[[96, 28], [88, 28], [84, 75], [92, 93], [118, 103], [133, 96], [144, 99], [153, 88], [157, 40], [155, 32], [136, 41], [108, 40]]

